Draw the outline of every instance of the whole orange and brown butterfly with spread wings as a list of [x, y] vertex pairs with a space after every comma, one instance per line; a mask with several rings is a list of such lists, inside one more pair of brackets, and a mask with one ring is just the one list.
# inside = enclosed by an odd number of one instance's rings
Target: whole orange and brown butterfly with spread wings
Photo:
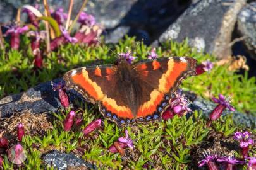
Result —
[[101, 114], [123, 126], [161, 120], [171, 96], [188, 76], [195, 74], [192, 57], [161, 57], [117, 65], [96, 65], [64, 74], [66, 86], [99, 105]]

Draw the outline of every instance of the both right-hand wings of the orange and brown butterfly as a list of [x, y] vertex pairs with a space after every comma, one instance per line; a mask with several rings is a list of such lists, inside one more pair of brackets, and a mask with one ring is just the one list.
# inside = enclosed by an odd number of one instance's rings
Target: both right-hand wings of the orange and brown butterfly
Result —
[[142, 88], [142, 99], [137, 111], [138, 121], [161, 118], [169, 106], [174, 90], [187, 76], [195, 74], [197, 60], [192, 57], [162, 57], [133, 64]]

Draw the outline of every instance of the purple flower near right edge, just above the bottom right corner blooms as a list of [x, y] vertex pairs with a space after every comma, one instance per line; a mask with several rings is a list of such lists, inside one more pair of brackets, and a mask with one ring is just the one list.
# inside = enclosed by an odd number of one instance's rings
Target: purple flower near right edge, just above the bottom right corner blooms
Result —
[[254, 143], [250, 132], [235, 132], [234, 139], [240, 142], [240, 147], [248, 147], [248, 145], [252, 145]]

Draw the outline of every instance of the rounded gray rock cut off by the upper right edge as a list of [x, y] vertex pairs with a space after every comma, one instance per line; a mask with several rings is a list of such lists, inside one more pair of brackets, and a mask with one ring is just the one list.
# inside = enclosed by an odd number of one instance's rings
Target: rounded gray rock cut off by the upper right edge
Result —
[[256, 2], [243, 7], [238, 14], [238, 31], [247, 47], [250, 57], [256, 60]]

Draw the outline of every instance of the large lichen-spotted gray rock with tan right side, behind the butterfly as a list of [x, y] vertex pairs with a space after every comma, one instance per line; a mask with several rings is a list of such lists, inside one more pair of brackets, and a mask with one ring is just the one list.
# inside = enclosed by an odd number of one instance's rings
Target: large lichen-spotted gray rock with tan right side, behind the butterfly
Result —
[[190, 8], [162, 33], [159, 42], [188, 38], [197, 50], [205, 50], [216, 57], [231, 55], [231, 34], [237, 14], [246, 0], [201, 0]]

